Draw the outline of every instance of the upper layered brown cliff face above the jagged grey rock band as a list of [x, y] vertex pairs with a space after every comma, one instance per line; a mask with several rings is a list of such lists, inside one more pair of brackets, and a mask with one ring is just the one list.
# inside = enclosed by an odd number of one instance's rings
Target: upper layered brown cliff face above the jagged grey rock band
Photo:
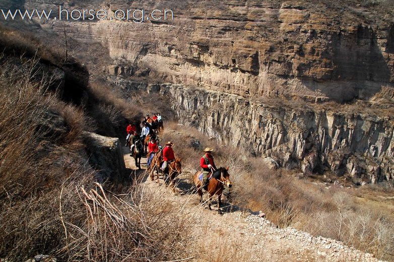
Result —
[[[66, 33], [92, 46], [100, 43], [114, 75], [149, 69], [149, 79], [243, 97], [294, 96], [308, 100], [370, 99], [393, 86], [391, 9], [347, 1], [230, 1], [153, 4], [172, 9], [174, 20], [69, 22]], [[127, 10], [127, 1], [38, 1], [27, 8]], [[381, 4], [383, 5], [383, 4]], [[53, 15], [56, 15], [55, 13]], [[45, 29], [63, 35], [64, 23]], [[88, 59], [87, 59], [88, 58]], [[88, 61], [97, 57], [86, 57]], [[92, 65], [96, 69], [97, 63]]]

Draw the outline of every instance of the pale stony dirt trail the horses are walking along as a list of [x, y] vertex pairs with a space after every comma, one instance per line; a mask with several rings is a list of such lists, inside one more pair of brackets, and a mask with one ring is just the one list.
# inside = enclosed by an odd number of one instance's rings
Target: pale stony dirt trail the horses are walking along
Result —
[[[137, 169], [134, 158], [128, 149], [123, 147], [126, 168]], [[146, 168], [146, 158], [141, 160], [141, 167]], [[173, 204], [181, 205], [190, 214], [198, 214], [199, 224], [195, 225], [193, 238], [199, 239], [202, 249], [207, 253], [215, 253], [218, 257], [195, 253], [195, 261], [220, 260], [231, 257], [239, 261], [377, 261], [371, 254], [363, 253], [353, 247], [333, 239], [313, 237], [312, 235], [293, 228], [277, 228], [258, 214], [240, 211], [224, 201], [223, 216], [198, 205], [198, 196], [190, 193], [191, 173], [182, 170], [178, 177], [175, 195], [169, 187], [163, 186], [160, 179], [156, 182], [144, 179], [145, 186], [154, 193], [166, 195]], [[215, 252], [212, 250], [215, 249]], [[225, 259], [226, 260], [226, 259]]]

